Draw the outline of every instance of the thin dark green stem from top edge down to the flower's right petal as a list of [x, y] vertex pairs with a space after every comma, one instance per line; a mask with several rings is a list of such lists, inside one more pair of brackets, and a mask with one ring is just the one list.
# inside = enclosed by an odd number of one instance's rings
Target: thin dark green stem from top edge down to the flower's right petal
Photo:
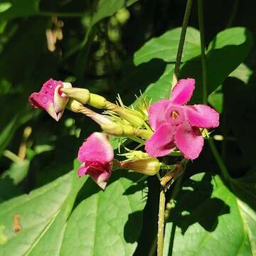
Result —
[[203, 26], [203, 1], [198, 0], [198, 23], [201, 41], [201, 61], [202, 61], [202, 82], [203, 82], [203, 104], [207, 104], [207, 66], [206, 66], [206, 46], [204, 40]]

